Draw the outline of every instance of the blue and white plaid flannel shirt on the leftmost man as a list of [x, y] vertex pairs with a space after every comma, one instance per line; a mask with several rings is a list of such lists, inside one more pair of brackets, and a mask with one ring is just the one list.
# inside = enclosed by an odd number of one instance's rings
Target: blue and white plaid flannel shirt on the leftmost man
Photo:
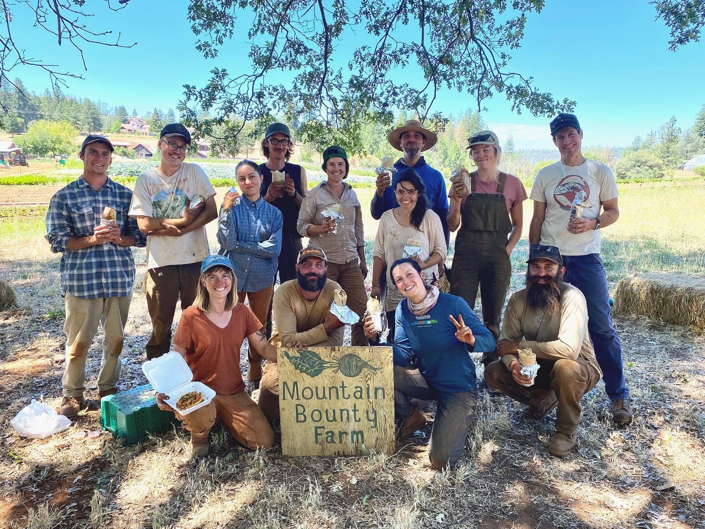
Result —
[[135, 246], [145, 246], [147, 238], [137, 221], [128, 217], [130, 200], [132, 191], [110, 178], [96, 191], [82, 176], [51, 197], [45, 238], [52, 252], [62, 254], [59, 270], [64, 293], [82, 299], [117, 298], [132, 293], [135, 261], [128, 246], [105, 243], [68, 250], [70, 237], [93, 235], [106, 206], [115, 209], [120, 233], [135, 237]]

